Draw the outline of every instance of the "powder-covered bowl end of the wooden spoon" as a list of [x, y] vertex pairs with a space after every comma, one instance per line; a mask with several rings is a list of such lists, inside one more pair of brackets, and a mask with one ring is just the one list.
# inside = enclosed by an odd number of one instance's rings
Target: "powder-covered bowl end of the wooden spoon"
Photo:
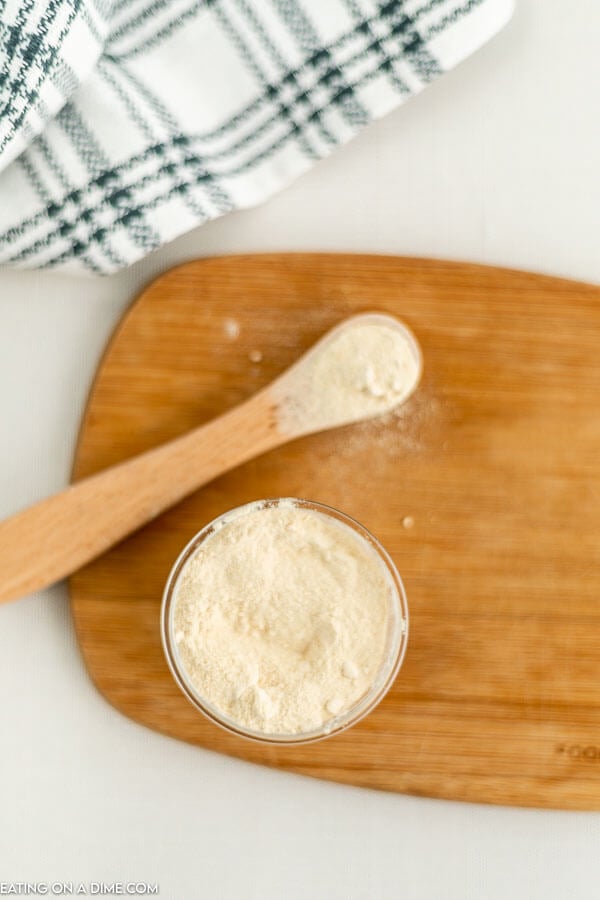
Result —
[[383, 415], [413, 392], [420, 374], [407, 328], [390, 316], [357, 316], [282, 379], [279, 427], [306, 433]]

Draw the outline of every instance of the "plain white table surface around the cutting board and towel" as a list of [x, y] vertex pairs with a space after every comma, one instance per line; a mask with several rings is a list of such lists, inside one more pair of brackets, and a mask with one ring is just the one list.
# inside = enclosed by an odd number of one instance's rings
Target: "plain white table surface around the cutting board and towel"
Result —
[[[104, 280], [0, 272], [0, 516], [66, 483], [105, 341], [174, 263], [381, 251], [600, 282], [599, 33], [597, 0], [520, 0], [491, 44], [262, 207]], [[173, 900], [597, 895], [600, 814], [386, 795], [199, 750], [96, 693], [64, 586], [0, 617], [0, 882], [156, 881]]]

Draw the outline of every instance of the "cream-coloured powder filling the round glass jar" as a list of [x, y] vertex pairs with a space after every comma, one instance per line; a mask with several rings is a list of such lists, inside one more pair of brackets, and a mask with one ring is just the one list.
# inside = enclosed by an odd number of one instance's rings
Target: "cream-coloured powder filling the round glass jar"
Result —
[[394, 586], [348, 525], [294, 501], [217, 522], [175, 585], [179, 664], [254, 732], [321, 728], [369, 691], [389, 651]]

